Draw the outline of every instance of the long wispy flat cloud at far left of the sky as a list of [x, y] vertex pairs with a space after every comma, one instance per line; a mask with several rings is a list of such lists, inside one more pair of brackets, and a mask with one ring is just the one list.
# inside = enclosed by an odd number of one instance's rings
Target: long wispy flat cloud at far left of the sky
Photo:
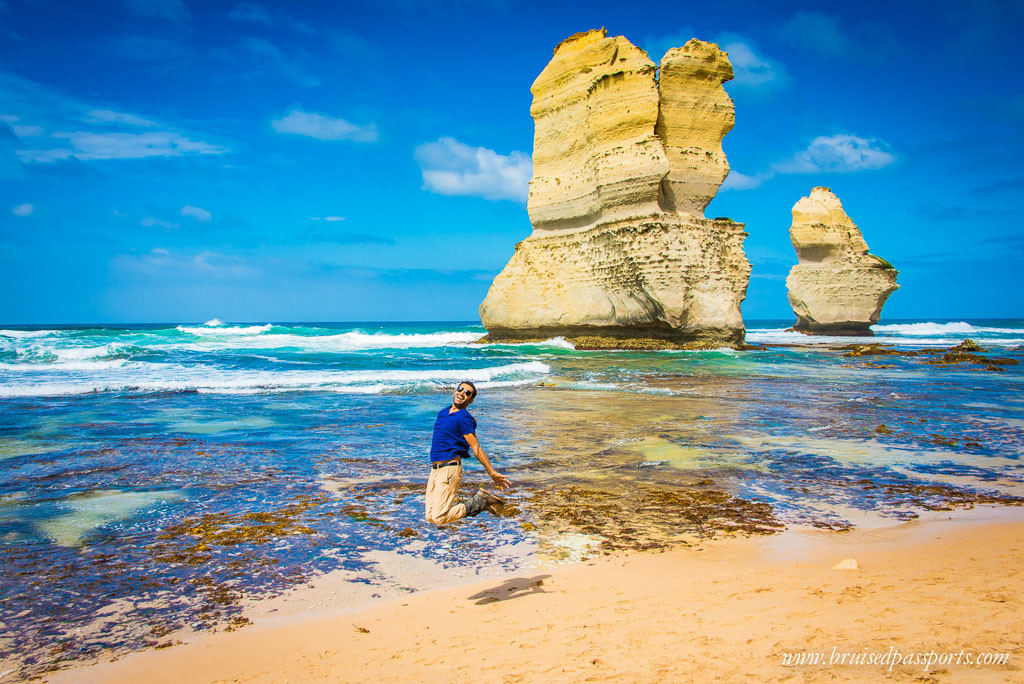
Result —
[[53, 133], [54, 138], [66, 138], [68, 147], [49, 149], [19, 149], [23, 162], [55, 162], [75, 157], [80, 161], [100, 159], [143, 159], [146, 157], [183, 157], [185, 155], [223, 155], [226, 147], [193, 140], [172, 131], [152, 133], [94, 133], [75, 131]]

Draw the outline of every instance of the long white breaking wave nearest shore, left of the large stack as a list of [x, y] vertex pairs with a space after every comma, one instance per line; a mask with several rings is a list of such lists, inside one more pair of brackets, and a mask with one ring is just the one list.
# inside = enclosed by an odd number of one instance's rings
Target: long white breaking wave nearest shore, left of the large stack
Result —
[[71, 375], [59, 381], [14, 382], [0, 386], [0, 396], [51, 396], [112, 391], [199, 391], [257, 393], [274, 391], [330, 391], [376, 394], [476, 383], [536, 382], [550, 372], [541, 361], [507, 364], [481, 369], [425, 371], [241, 371], [168, 364], [131, 364], [104, 373]]

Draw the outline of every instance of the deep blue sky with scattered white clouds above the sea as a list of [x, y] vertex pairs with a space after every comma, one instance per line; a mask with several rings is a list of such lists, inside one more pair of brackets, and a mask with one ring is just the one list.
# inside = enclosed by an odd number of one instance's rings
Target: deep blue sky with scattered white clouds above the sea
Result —
[[0, 323], [476, 319], [530, 232], [529, 86], [605, 27], [736, 71], [748, 319], [831, 187], [884, 317], [1024, 316], [1021, 2], [0, 0]]

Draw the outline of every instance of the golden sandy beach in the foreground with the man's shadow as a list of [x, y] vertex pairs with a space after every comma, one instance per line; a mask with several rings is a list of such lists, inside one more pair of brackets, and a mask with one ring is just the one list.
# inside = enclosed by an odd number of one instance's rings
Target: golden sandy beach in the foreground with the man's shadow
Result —
[[[834, 567], [848, 559], [858, 569]], [[240, 631], [48, 681], [1020, 681], [1022, 561], [1024, 510], [978, 507], [604, 556], [355, 610], [313, 609], [312, 588]]]

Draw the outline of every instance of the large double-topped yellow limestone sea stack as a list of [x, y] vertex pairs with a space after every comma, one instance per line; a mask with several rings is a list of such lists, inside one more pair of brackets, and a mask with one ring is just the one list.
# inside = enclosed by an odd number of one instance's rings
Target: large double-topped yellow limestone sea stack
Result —
[[603, 29], [555, 48], [531, 88], [534, 232], [480, 304], [490, 340], [742, 344], [746, 233], [703, 216], [729, 173], [730, 79], [725, 52], [695, 39], [659, 70]]

